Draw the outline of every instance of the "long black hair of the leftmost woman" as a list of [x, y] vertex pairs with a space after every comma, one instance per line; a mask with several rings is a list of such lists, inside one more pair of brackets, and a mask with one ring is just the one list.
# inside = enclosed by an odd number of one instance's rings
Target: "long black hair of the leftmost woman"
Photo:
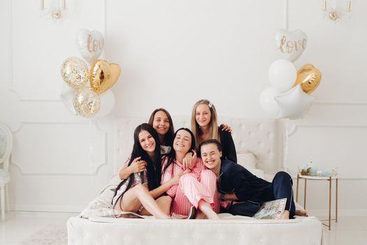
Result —
[[[147, 152], [144, 151], [143, 148], [141, 147], [141, 143], [139, 141], [139, 134], [142, 131], [149, 132], [155, 141], [153, 160], [150, 158]], [[136, 129], [134, 130], [134, 146], [133, 151], [131, 152], [128, 166], [130, 166], [131, 163], [134, 162], [134, 159], [138, 157], [141, 157], [141, 160], [147, 162], [147, 186], [149, 190], [157, 188], [161, 184], [161, 145], [159, 144], [159, 137], [157, 132], [151, 125], [147, 123], [138, 125], [138, 127], [136, 127]], [[127, 190], [129, 190], [131, 184], [134, 182], [134, 178], [135, 178], [134, 174], [130, 174]], [[117, 186], [115, 190], [115, 195], [117, 193], [117, 190], [119, 190], [122, 184], [124, 183], [124, 181], [121, 181], [121, 183]]]

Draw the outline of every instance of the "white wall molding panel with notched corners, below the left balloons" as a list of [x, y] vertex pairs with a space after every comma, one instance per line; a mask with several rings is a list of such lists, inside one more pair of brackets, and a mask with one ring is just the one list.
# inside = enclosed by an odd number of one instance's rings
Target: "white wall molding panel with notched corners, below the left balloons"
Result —
[[13, 137], [11, 164], [23, 175], [96, 175], [107, 165], [107, 133], [96, 124], [23, 122]]

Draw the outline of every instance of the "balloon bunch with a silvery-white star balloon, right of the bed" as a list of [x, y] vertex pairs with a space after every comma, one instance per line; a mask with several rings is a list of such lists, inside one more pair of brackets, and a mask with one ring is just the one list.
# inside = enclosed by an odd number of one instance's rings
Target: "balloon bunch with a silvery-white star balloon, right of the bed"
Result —
[[301, 30], [275, 33], [275, 41], [282, 55], [271, 64], [268, 78], [272, 87], [260, 94], [260, 106], [277, 118], [300, 118], [310, 108], [315, 96], [311, 95], [321, 80], [321, 72], [312, 64], [305, 64], [298, 71], [294, 62], [307, 44], [307, 36]]

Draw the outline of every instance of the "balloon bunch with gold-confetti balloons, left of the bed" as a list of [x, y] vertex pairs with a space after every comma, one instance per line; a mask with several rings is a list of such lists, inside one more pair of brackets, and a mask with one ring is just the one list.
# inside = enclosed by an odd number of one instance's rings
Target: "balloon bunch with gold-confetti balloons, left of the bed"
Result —
[[75, 115], [85, 118], [106, 116], [115, 105], [115, 95], [110, 88], [120, 77], [121, 69], [118, 64], [98, 59], [103, 45], [101, 32], [80, 29], [76, 35], [76, 46], [90, 64], [90, 69], [79, 57], [69, 57], [62, 63], [62, 79], [71, 88], [62, 92], [60, 97]]

